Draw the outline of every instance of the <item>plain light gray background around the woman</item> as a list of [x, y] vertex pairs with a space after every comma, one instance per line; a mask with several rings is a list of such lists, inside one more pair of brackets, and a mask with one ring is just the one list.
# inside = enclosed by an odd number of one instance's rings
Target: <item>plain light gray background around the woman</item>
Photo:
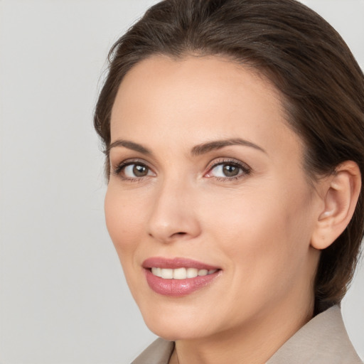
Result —
[[[0, 363], [129, 363], [154, 335], [105, 229], [107, 51], [152, 0], [0, 0]], [[364, 1], [307, 0], [364, 65]], [[364, 358], [364, 268], [343, 302]]]

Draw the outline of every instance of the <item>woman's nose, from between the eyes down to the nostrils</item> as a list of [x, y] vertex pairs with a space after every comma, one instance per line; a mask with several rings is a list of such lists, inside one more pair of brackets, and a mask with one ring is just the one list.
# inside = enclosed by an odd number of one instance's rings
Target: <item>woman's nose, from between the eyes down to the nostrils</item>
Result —
[[163, 243], [191, 240], [200, 235], [196, 191], [186, 181], [164, 182], [151, 206], [149, 236]]

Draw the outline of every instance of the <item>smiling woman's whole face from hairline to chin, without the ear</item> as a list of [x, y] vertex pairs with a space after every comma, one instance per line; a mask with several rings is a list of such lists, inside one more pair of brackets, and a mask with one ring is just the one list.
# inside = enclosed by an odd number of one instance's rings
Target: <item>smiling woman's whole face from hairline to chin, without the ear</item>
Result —
[[151, 57], [119, 87], [111, 137], [107, 228], [151, 331], [309, 311], [323, 205], [269, 82], [223, 58]]

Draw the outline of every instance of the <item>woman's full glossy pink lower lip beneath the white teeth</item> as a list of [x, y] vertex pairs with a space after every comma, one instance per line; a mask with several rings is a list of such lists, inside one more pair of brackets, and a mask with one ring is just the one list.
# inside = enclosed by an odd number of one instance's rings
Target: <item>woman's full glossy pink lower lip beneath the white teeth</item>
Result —
[[149, 287], [158, 294], [164, 296], [181, 297], [187, 296], [198, 289], [206, 287], [220, 275], [220, 270], [206, 276], [197, 276], [187, 279], [163, 279], [156, 277], [149, 269], [145, 269], [146, 282]]

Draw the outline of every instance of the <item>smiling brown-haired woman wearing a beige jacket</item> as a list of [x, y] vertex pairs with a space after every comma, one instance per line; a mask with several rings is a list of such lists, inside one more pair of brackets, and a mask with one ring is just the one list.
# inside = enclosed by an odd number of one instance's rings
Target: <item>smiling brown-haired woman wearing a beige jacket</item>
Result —
[[110, 51], [107, 228], [157, 340], [134, 363], [361, 363], [364, 77], [294, 0], [166, 0]]

